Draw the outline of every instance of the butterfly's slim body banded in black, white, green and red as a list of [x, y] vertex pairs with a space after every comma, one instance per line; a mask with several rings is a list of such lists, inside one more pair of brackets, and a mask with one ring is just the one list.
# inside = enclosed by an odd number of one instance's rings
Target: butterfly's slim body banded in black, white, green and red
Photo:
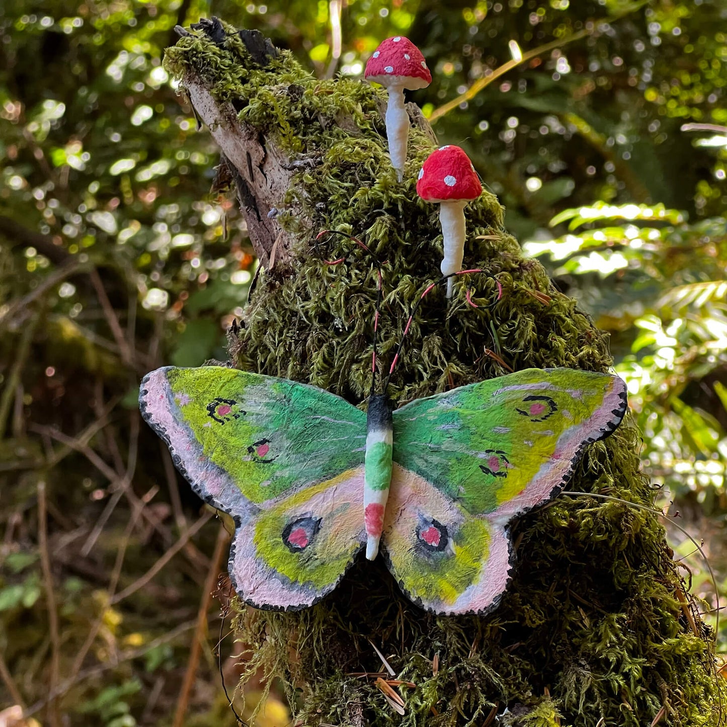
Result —
[[383, 394], [371, 395], [366, 417], [364, 459], [364, 522], [366, 558], [369, 561], [373, 561], [379, 552], [379, 539], [391, 484], [392, 443], [393, 420], [390, 403]]

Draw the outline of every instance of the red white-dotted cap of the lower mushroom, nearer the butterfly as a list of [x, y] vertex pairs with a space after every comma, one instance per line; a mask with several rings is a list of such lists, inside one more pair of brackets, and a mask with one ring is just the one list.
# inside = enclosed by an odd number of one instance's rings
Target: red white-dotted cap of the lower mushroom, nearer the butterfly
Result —
[[481, 192], [475, 167], [458, 146], [443, 146], [433, 151], [419, 171], [417, 194], [425, 202], [476, 199]]

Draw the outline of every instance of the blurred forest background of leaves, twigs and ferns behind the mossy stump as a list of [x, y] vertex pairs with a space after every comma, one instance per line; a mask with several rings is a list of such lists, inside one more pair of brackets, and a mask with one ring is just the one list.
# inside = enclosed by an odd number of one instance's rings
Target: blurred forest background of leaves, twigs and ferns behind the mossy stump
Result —
[[[704, 562], [669, 522], [704, 539], [724, 598], [726, 0], [7, 0], [0, 723], [20, 705], [26, 727], [161, 727], [186, 705], [190, 727], [234, 724], [225, 531], [136, 403], [146, 371], [226, 358], [256, 271], [162, 62], [174, 25], [211, 15], [321, 78], [361, 77], [388, 36], [422, 49], [433, 83], [411, 100], [611, 333], [655, 502], [714, 623]], [[241, 652], [222, 642], [230, 686]], [[285, 714], [273, 697], [258, 723]]]

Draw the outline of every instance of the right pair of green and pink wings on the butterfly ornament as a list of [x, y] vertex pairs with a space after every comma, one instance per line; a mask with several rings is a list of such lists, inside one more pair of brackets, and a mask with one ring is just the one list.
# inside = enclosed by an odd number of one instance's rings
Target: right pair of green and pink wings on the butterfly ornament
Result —
[[507, 523], [558, 494], [626, 406], [618, 377], [527, 369], [395, 411], [398, 494], [383, 542], [405, 593], [441, 613], [497, 603], [510, 570]]

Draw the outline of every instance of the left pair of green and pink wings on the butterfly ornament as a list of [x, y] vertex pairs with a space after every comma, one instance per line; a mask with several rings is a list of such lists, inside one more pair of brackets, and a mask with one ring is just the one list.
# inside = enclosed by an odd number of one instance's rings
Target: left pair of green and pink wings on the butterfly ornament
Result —
[[246, 601], [304, 608], [332, 590], [365, 539], [366, 414], [222, 366], [152, 371], [140, 408], [193, 489], [235, 518], [230, 577]]

